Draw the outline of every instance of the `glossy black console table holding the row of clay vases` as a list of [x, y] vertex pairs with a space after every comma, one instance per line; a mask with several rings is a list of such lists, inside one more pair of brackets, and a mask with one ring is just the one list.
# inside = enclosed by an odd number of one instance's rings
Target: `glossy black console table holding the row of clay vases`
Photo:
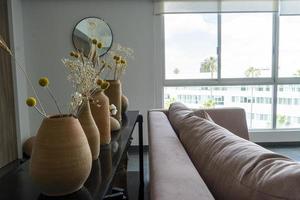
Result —
[[29, 161], [26, 161], [0, 179], [0, 199], [115, 199], [112, 197], [113, 195], [109, 195], [112, 189], [112, 181], [121, 163], [121, 159], [127, 155], [127, 150], [132, 141], [132, 133], [137, 123], [139, 125], [139, 199], [143, 199], [143, 116], [140, 115], [138, 111], [128, 111], [123, 117], [121, 130], [112, 133], [111, 143], [101, 146], [100, 157], [98, 160], [93, 161], [91, 174], [81, 190], [62, 197], [48, 197], [42, 195], [39, 187], [32, 182], [29, 176]]

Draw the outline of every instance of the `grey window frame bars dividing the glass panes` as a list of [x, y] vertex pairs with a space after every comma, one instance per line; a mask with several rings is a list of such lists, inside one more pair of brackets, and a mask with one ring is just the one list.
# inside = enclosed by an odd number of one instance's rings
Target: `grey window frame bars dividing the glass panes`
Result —
[[[251, 13], [260, 13], [260, 12], [251, 12]], [[297, 132], [299, 133], [299, 128], [276, 128], [277, 123], [277, 89], [279, 85], [300, 85], [299, 77], [279, 77], [278, 76], [278, 61], [279, 61], [279, 34], [280, 34], [280, 14], [279, 12], [273, 12], [272, 20], [272, 69], [271, 77], [262, 77], [262, 78], [222, 78], [222, 13], [217, 14], [217, 77], [215, 79], [166, 79], [166, 63], [165, 63], [165, 26], [164, 26], [164, 17], [161, 17], [161, 34], [162, 34], [162, 104], [163, 105], [163, 88], [164, 87], [185, 87], [185, 86], [251, 86], [251, 85], [271, 85], [273, 86], [272, 91], [272, 128], [270, 129], [250, 129], [250, 132], [253, 133], [266, 133], [266, 132]]]

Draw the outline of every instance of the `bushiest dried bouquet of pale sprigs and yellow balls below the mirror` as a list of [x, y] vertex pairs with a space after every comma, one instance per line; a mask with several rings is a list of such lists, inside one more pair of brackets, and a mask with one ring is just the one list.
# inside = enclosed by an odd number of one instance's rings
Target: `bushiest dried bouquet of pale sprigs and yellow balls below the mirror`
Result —
[[93, 94], [109, 87], [108, 82], [99, 78], [105, 68], [105, 63], [100, 61], [97, 55], [97, 48], [102, 48], [102, 44], [96, 39], [91, 42], [88, 56], [85, 56], [83, 51], [77, 50], [70, 53], [71, 58], [62, 60], [69, 73], [67, 78], [75, 89], [70, 103], [70, 113], [75, 116], [79, 115], [84, 102], [90, 101], [97, 106], [101, 106], [93, 99]]

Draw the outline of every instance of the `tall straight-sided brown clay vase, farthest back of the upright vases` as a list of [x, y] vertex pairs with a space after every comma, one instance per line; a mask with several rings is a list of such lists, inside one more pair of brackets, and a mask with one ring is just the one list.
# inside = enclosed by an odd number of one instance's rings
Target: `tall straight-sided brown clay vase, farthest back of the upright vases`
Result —
[[110, 86], [105, 90], [106, 96], [109, 98], [109, 104], [117, 107], [117, 114], [113, 115], [119, 122], [122, 121], [122, 85], [120, 80], [108, 80]]

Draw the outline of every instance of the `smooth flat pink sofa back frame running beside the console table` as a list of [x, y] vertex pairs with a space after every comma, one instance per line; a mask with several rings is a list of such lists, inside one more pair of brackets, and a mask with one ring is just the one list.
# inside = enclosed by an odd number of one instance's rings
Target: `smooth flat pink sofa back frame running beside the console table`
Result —
[[151, 200], [214, 199], [163, 112], [148, 114]]

